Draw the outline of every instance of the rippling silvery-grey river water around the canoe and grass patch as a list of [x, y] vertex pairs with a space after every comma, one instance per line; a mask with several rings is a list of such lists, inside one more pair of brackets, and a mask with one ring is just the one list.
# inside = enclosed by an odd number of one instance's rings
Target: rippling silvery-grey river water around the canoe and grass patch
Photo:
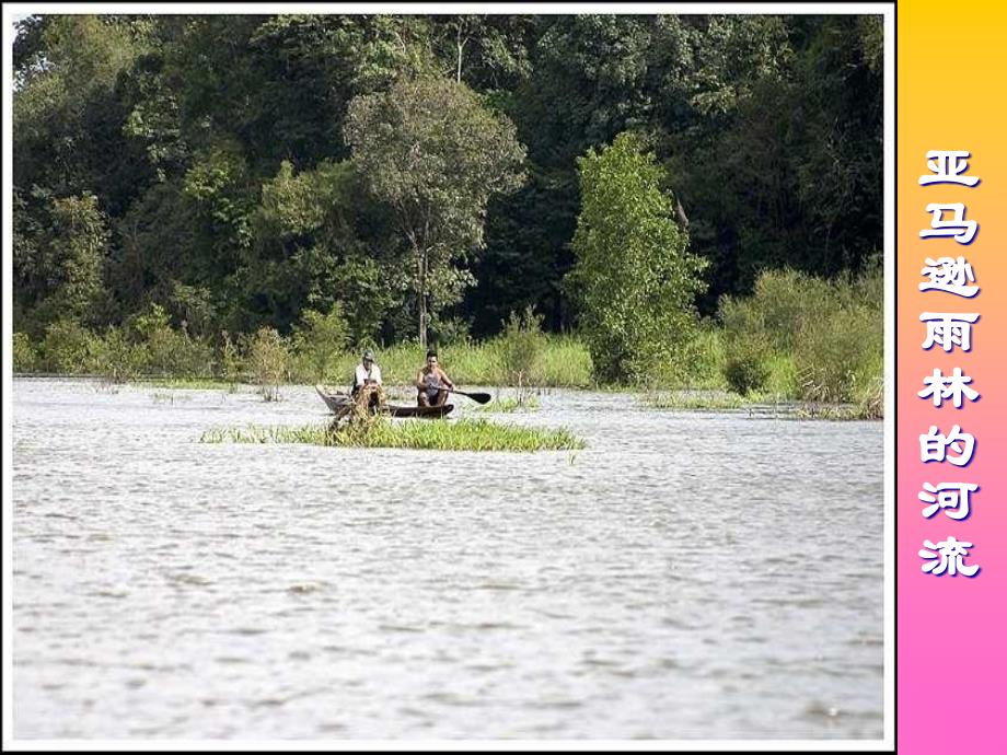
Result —
[[282, 397], [14, 381], [14, 736], [882, 735], [880, 422], [556, 391], [494, 418], [575, 454], [198, 442], [325, 420]]

